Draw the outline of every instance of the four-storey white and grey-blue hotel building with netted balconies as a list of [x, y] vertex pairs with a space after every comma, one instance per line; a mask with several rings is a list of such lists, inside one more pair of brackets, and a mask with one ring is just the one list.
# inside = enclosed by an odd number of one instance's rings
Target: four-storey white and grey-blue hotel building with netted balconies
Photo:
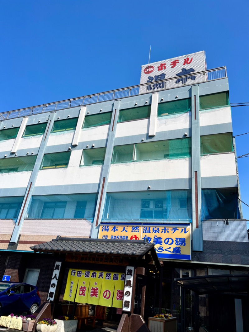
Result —
[[21, 252], [57, 235], [147, 237], [175, 313], [174, 278], [248, 273], [226, 70], [195, 75], [0, 114], [1, 278], [45, 285]]

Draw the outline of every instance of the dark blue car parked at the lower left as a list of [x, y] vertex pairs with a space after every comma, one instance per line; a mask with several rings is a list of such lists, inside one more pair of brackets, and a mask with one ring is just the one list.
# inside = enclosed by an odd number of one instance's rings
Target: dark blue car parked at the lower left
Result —
[[41, 304], [36, 286], [24, 283], [0, 282], [0, 315], [33, 314]]

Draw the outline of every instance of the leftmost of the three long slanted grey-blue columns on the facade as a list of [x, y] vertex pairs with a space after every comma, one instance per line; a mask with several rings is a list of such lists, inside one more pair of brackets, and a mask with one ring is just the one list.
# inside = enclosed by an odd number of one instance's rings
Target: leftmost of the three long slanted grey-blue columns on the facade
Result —
[[28, 184], [28, 187], [27, 187], [25, 195], [24, 195], [23, 204], [22, 204], [21, 210], [19, 212], [16, 224], [15, 224], [12, 236], [11, 236], [8, 249], [11, 249], [11, 247], [18, 241], [18, 237], [20, 235], [22, 225], [23, 225], [23, 220], [26, 217], [27, 209], [28, 209], [31, 197], [32, 197], [32, 192], [35, 187], [36, 179], [38, 176], [38, 171], [41, 167], [41, 162], [42, 162], [42, 159], [44, 156], [45, 147], [47, 145], [49, 134], [53, 127], [54, 118], [55, 118], [55, 112], [51, 113], [48, 117], [46, 129], [43, 134], [41, 145], [40, 145], [40, 148], [39, 148], [39, 151], [37, 154], [36, 163], [34, 165], [33, 171], [30, 176], [29, 184]]

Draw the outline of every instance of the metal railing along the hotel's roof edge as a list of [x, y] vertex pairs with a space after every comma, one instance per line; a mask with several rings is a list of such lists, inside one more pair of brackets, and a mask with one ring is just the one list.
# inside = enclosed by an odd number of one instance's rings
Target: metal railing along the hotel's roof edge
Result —
[[105, 102], [109, 100], [121, 99], [124, 97], [137, 96], [140, 94], [157, 92], [176, 87], [182, 87], [186, 85], [193, 85], [207, 81], [213, 81], [226, 76], [226, 67], [219, 67], [215, 69], [205, 70], [198, 73], [192, 73], [189, 75], [183, 75], [165, 80], [133, 85], [123, 89], [116, 89], [107, 92], [101, 92], [93, 95], [62, 100], [54, 103], [27, 107], [20, 110], [8, 111], [0, 113], [0, 121], [26, 117], [33, 114], [41, 114], [45, 112], [54, 112], [71, 107], [84, 106], [89, 104], [95, 104]]

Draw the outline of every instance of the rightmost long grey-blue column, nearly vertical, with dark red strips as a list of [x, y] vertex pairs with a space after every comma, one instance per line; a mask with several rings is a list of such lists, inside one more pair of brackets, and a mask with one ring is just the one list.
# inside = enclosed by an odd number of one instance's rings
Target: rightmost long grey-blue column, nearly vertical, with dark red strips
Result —
[[193, 251], [203, 251], [203, 234], [201, 223], [201, 141], [200, 141], [200, 102], [199, 85], [191, 89], [192, 116], [192, 223], [193, 223]]

